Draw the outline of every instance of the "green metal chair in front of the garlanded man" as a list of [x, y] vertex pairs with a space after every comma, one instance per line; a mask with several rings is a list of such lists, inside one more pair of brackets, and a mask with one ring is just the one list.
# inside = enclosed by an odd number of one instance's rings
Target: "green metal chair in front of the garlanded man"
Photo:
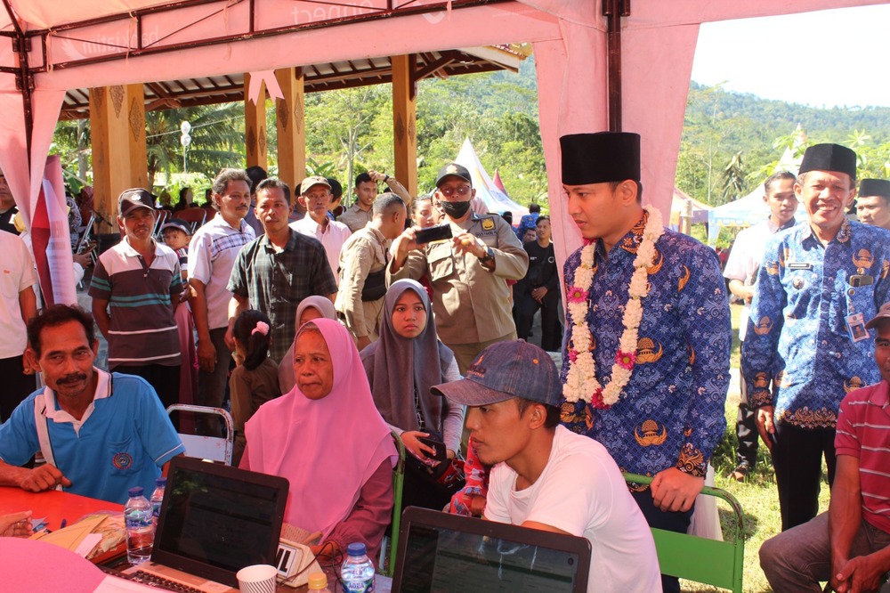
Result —
[[[625, 474], [628, 483], [649, 484], [646, 475]], [[652, 528], [661, 573], [741, 593], [745, 565], [745, 528], [741, 506], [727, 491], [705, 486], [707, 496], [725, 500], [735, 514], [735, 537], [728, 541], [708, 540], [686, 533]]]

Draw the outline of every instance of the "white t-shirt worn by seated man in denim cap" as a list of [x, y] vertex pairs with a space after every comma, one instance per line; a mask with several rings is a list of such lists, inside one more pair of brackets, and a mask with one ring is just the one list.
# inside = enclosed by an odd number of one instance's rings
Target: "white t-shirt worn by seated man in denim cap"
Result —
[[486, 519], [514, 525], [534, 521], [587, 538], [588, 591], [661, 590], [652, 532], [602, 444], [557, 426], [538, 480], [517, 491], [516, 477], [506, 463], [492, 467]]

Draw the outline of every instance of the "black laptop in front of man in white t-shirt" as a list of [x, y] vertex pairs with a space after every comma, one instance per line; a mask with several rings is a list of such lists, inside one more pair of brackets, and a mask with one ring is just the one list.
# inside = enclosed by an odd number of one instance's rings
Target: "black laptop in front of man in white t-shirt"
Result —
[[589, 567], [585, 538], [409, 507], [392, 593], [584, 593]]

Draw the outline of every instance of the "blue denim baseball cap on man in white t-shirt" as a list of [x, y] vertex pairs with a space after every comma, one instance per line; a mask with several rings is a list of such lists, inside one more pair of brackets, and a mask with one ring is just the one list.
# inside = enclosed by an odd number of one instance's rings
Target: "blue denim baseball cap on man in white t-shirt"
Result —
[[467, 406], [514, 397], [559, 406], [562, 383], [550, 354], [525, 340], [515, 340], [485, 348], [473, 359], [465, 378], [434, 386], [433, 393]]

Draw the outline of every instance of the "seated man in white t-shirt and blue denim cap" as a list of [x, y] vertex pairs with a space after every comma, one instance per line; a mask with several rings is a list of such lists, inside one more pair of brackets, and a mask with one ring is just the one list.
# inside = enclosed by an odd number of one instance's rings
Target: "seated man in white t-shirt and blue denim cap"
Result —
[[554, 362], [522, 340], [479, 353], [466, 378], [433, 393], [469, 406], [473, 451], [492, 465], [483, 516], [590, 540], [589, 591], [661, 590], [649, 525], [602, 444], [560, 421]]

